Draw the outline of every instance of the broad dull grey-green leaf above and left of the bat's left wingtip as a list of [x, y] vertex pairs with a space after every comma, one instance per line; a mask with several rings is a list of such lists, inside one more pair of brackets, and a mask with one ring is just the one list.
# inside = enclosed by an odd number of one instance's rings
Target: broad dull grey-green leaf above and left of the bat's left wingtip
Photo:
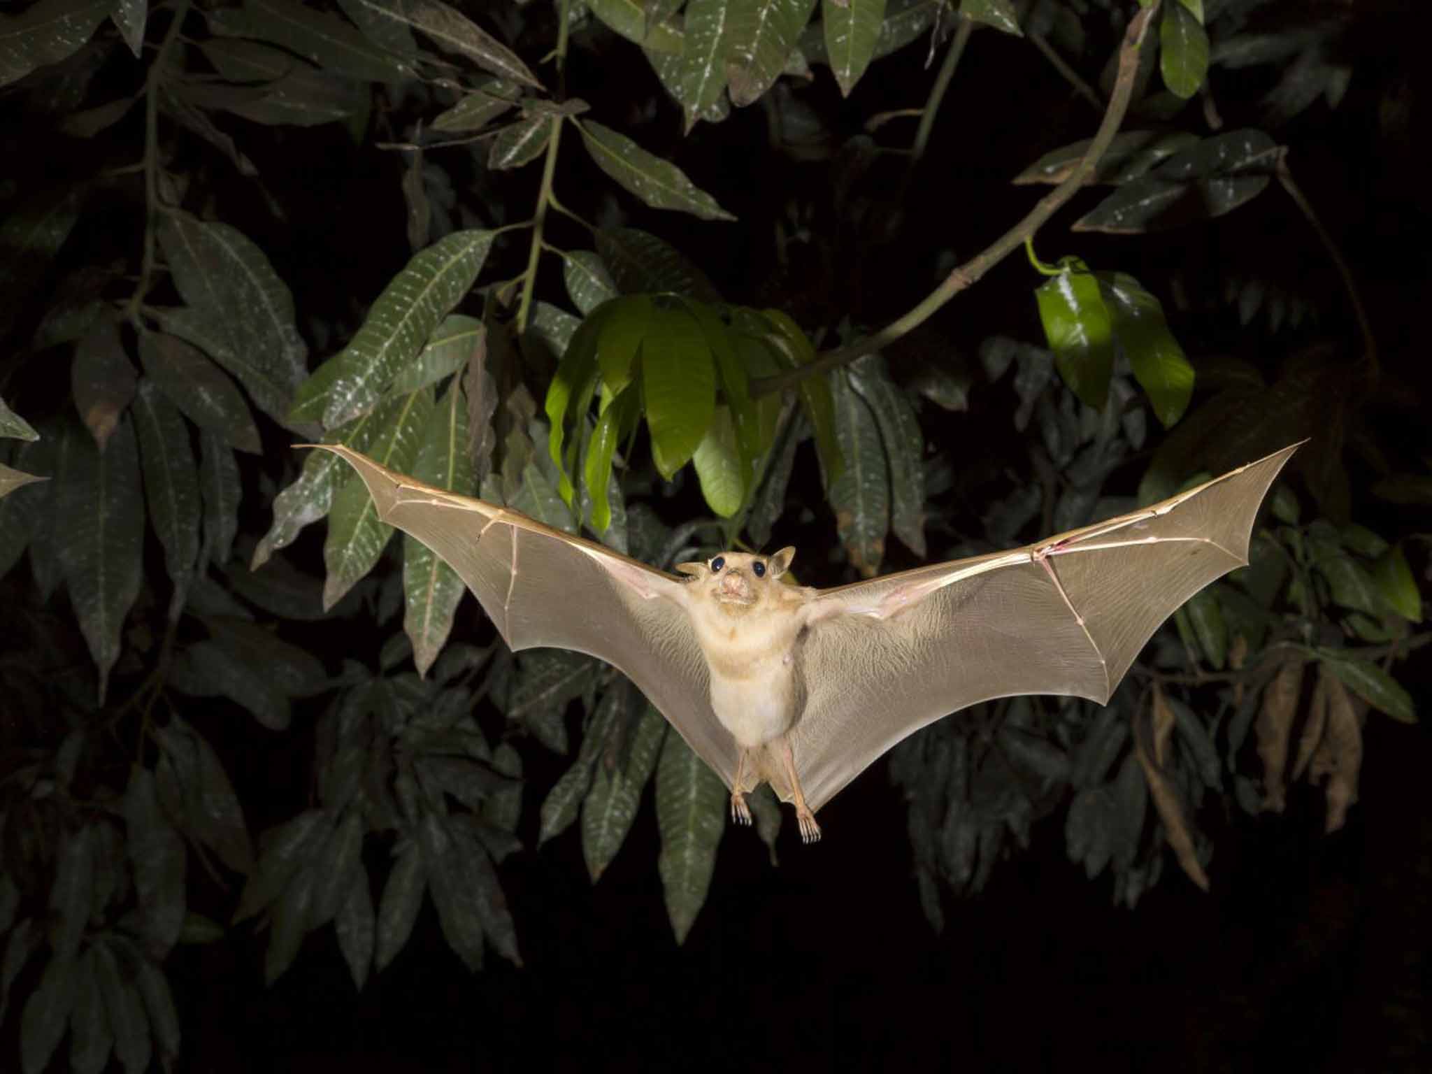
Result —
[[268, 256], [236, 228], [180, 212], [160, 218], [159, 245], [179, 294], [221, 345], [189, 342], [233, 374], [259, 410], [286, 424], [308, 375], [308, 345], [294, 319], [294, 295]]

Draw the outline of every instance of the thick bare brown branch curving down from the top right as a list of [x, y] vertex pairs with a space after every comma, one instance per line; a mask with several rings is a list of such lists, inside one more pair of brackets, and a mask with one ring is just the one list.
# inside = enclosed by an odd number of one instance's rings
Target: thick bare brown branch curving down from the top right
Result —
[[1084, 185], [1084, 180], [1094, 172], [1100, 158], [1114, 140], [1114, 135], [1118, 133], [1120, 123], [1124, 122], [1124, 113], [1128, 112], [1128, 103], [1134, 93], [1134, 76], [1138, 73], [1138, 49], [1144, 42], [1148, 23], [1157, 10], [1158, 3], [1156, 0], [1148, 7], [1140, 10], [1138, 14], [1136, 14], [1128, 23], [1128, 30], [1124, 33], [1124, 44], [1118, 54], [1118, 79], [1114, 83], [1114, 92], [1108, 97], [1108, 109], [1104, 112], [1104, 119], [1098, 125], [1098, 133], [1094, 136], [1094, 140], [1090, 142], [1088, 152], [1084, 153], [1084, 159], [1078, 162], [1078, 166], [1063, 183], [1041, 198], [1022, 221], [995, 239], [984, 249], [984, 252], [955, 268], [935, 291], [932, 291], [908, 314], [896, 321], [892, 321], [879, 332], [875, 332], [856, 344], [829, 351], [809, 365], [778, 374], [776, 377], [763, 377], [758, 381], [752, 381], [752, 398], [760, 398], [762, 395], [769, 395], [773, 391], [790, 388], [806, 377], [828, 372], [853, 362], [862, 355], [888, 347], [911, 329], [924, 324], [951, 298], [984, 276], [985, 272], [1004, 261], [1011, 252], [1017, 251], [1024, 243], [1027, 236], [1038, 231], [1055, 212], [1058, 212], [1064, 203], [1078, 192], [1078, 189]]

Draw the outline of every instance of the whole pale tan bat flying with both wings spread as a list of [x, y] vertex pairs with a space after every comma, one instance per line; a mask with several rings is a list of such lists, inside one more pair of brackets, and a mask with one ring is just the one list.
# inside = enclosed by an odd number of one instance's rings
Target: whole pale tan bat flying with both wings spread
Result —
[[679, 576], [524, 514], [422, 484], [341, 444], [378, 517], [428, 546], [513, 650], [627, 674], [730, 788], [815, 813], [901, 739], [994, 697], [1108, 702], [1183, 601], [1247, 563], [1283, 448], [1170, 500], [1012, 551], [836, 589], [792, 586], [795, 548], [723, 551]]

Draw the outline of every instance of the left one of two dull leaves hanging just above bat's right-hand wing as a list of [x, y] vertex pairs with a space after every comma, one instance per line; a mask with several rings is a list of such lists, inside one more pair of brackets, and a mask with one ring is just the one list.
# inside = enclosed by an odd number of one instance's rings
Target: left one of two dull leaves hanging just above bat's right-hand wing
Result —
[[832, 378], [835, 434], [845, 468], [831, 481], [835, 526], [851, 564], [866, 579], [874, 577], [885, 557], [889, 530], [889, 463], [871, 408], [849, 385], [845, 374]]

